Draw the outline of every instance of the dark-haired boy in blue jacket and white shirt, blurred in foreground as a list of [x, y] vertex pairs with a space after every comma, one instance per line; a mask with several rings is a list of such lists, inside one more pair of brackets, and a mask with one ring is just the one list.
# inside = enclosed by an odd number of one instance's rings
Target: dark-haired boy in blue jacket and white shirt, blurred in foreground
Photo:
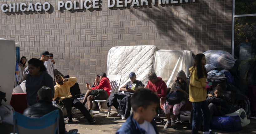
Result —
[[133, 114], [116, 134], [158, 134], [153, 119], [159, 103], [159, 98], [154, 92], [145, 88], [138, 89], [131, 99]]

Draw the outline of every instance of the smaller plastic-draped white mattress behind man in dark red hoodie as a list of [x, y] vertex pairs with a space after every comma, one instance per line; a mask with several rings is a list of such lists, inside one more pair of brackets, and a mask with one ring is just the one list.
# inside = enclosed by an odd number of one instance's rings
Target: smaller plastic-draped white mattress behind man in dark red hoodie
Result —
[[154, 72], [158, 77], [162, 77], [167, 87], [171, 87], [180, 70], [183, 70], [187, 77], [189, 76], [189, 68], [193, 62], [190, 51], [158, 50], [154, 55]]

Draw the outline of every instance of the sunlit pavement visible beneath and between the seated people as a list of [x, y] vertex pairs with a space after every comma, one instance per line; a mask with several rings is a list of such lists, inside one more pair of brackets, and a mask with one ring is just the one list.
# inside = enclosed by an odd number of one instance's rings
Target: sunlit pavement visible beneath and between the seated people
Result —
[[[75, 117], [75, 116], [74, 116]], [[78, 129], [78, 133], [80, 134], [114, 134], [126, 120], [122, 120], [121, 117], [117, 117], [117, 112], [112, 112], [110, 117], [107, 118], [105, 114], [95, 114], [93, 116], [97, 122], [95, 124], [89, 124], [85, 118], [75, 118], [73, 119], [72, 124], [68, 124], [65, 121], [65, 128], [66, 130], [71, 129]], [[162, 118], [166, 120], [164, 116]], [[255, 133], [256, 134], [256, 119], [251, 119], [250, 124], [243, 127], [242, 130], [237, 132], [224, 132], [219, 130], [213, 130], [218, 134], [248, 134], [248, 133]], [[190, 134], [191, 129], [188, 129], [186, 124], [177, 124], [177, 129], [169, 128], [164, 129], [164, 125], [161, 125], [160, 122], [157, 123], [157, 128], [160, 134]], [[199, 132], [203, 133], [203, 132]]]

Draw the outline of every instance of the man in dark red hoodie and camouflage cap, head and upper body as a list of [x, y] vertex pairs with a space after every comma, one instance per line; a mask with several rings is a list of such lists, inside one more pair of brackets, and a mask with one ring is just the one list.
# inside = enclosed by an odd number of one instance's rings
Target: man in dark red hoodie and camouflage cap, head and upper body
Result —
[[159, 98], [166, 96], [167, 86], [161, 77], [157, 77], [154, 72], [150, 72], [148, 75], [149, 82], [146, 88], [156, 93]]

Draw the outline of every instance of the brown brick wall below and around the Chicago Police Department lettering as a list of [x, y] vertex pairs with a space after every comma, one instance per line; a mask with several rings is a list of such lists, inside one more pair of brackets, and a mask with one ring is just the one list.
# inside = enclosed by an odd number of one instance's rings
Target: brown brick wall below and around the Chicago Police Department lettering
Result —
[[[65, 2], [65, 0], [63, 0]], [[3, 3], [29, 3], [2, 0]], [[232, 0], [196, 0], [188, 3], [140, 7], [107, 7], [83, 10], [2, 12], [0, 37], [15, 40], [20, 56], [39, 58], [43, 50], [54, 54], [55, 72], [77, 77], [80, 88], [106, 72], [111, 47], [155, 45], [159, 49], [184, 49], [193, 53], [207, 50], [231, 52]], [[73, 2], [73, 0], [72, 0]], [[149, 1], [151, 3], [152, 1]], [[170, 3], [170, 2], [169, 2]]]

